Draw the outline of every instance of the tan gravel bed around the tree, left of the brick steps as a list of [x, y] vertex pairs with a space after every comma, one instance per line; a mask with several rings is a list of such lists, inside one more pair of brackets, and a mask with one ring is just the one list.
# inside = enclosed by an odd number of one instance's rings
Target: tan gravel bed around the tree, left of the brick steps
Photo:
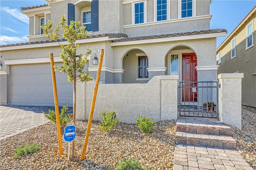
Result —
[[[99, 121], [93, 121], [86, 159], [80, 161], [86, 127], [87, 121], [76, 121], [76, 152], [70, 161], [67, 161], [68, 143], [63, 139], [64, 155], [58, 155], [56, 125], [52, 122], [3, 139], [0, 141], [0, 167], [4, 170], [105, 170], [115, 168], [122, 158], [133, 157], [148, 169], [172, 169], [176, 133], [174, 120], [157, 122], [150, 134], [142, 133], [135, 124], [126, 123], [118, 123], [114, 132], [104, 133]], [[38, 152], [12, 157], [18, 146], [32, 143], [41, 144]]]

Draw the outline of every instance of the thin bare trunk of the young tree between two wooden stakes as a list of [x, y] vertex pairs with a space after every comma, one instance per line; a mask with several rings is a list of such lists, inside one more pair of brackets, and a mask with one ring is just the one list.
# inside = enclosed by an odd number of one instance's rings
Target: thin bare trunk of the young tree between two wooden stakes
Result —
[[[76, 56], [74, 57], [74, 69], [76, 69]], [[73, 124], [76, 125], [76, 70], [74, 70], [75, 72], [75, 78], [73, 80]], [[72, 154], [71, 154], [71, 158], [74, 157], [75, 155], [75, 140], [72, 141]]]

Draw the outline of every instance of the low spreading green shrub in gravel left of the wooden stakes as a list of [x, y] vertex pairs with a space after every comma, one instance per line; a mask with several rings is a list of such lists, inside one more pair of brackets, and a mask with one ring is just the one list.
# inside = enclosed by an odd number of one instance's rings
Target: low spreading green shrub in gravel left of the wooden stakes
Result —
[[14, 157], [19, 158], [22, 155], [28, 155], [28, 154], [33, 154], [36, 153], [41, 145], [40, 144], [30, 144], [30, 145], [22, 145], [19, 146], [14, 154]]

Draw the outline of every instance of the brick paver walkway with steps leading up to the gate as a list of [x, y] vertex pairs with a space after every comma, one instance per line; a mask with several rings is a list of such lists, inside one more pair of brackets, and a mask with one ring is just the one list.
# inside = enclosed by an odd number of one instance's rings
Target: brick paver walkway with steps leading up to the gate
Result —
[[215, 118], [177, 119], [174, 170], [253, 170], [240, 156], [230, 127]]

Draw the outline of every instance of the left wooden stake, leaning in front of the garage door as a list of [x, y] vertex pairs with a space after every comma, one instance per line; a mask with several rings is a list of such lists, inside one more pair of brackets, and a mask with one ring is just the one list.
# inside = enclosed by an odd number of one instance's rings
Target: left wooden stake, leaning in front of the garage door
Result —
[[59, 153], [63, 154], [62, 141], [61, 141], [61, 130], [60, 130], [60, 113], [59, 113], [59, 106], [58, 106], [58, 96], [57, 96], [55, 72], [54, 72], [54, 68], [53, 68], [54, 60], [53, 60], [53, 54], [52, 53], [50, 53], [50, 62], [51, 62], [51, 70], [52, 70], [52, 86], [53, 86], [56, 124], [57, 124], [57, 132], [58, 132]]

